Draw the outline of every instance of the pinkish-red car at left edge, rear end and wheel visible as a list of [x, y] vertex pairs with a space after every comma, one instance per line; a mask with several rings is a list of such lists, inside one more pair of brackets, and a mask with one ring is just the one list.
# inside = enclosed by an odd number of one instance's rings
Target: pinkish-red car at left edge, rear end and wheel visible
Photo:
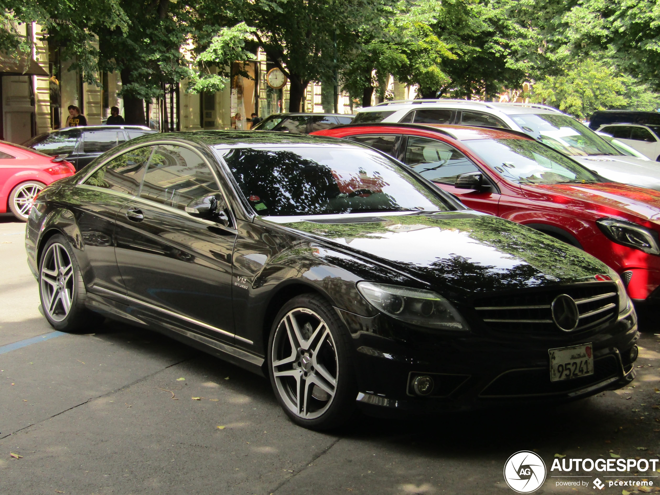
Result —
[[75, 172], [61, 158], [0, 141], [0, 213], [25, 222], [39, 191]]

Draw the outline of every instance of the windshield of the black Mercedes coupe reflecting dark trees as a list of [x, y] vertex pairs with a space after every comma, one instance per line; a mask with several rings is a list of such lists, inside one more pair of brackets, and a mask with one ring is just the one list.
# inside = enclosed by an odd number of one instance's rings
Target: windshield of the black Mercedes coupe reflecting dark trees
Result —
[[373, 150], [315, 145], [222, 152], [257, 215], [449, 210], [438, 193]]

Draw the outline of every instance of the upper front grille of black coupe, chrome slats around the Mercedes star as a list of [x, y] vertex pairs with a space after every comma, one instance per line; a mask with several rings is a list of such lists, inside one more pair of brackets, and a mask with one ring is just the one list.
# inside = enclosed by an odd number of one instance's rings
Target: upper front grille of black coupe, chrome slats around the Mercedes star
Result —
[[587, 282], [570, 286], [529, 289], [502, 296], [480, 298], [475, 310], [488, 329], [504, 333], [564, 335], [552, 321], [552, 301], [559, 294], [571, 296], [579, 310], [577, 335], [608, 323], [616, 317], [616, 284]]

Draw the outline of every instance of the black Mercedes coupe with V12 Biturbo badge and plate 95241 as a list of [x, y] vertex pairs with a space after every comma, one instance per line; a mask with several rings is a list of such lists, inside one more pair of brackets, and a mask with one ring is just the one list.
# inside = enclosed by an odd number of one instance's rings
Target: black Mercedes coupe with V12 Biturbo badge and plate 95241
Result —
[[268, 376], [308, 428], [559, 403], [633, 380], [621, 279], [339, 139], [133, 139], [46, 187], [26, 249], [44, 315], [149, 327]]

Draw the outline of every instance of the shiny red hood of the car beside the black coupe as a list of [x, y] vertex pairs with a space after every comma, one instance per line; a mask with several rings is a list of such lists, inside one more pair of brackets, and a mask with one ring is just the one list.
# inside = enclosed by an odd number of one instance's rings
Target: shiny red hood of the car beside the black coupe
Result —
[[[620, 183], [522, 185], [529, 199], [554, 201], [551, 195], [572, 199], [595, 216], [624, 216], [627, 220], [660, 220], [660, 191]], [[562, 202], [559, 202], [562, 203]], [[563, 202], [565, 203], [565, 202]]]

